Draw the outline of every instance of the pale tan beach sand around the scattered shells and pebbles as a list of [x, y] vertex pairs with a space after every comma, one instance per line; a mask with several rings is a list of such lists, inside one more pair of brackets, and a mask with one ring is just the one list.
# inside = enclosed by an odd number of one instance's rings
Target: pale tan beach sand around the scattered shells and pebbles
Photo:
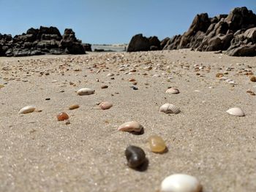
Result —
[[[216, 77], [228, 67], [224, 77], [237, 85]], [[256, 96], [246, 93], [256, 82], [245, 75], [255, 68], [256, 58], [189, 50], [0, 58], [0, 191], [158, 191], [174, 173], [197, 177], [205, 192], [256, 191]], [[169, 86], [181, 93], [165, 93]], [[80, 88], [95, 93], [78, 96]], [[100, 110], [101, 101], [113, 107]], [[165, 103], [181, 112], [159, 112]], [[42, 112], [18, 115], [31, 104]], [[246, 116], [228, 115], [231, 107]], [[69, 125], [57, 121], [59, 112]], [[145, 133], [117, 131], [131, 120]], [[152, 134], [165, 139], [167, 153], [149, 150]], [[146, 152], [146, 171], [127, 166], [129, 145]]]

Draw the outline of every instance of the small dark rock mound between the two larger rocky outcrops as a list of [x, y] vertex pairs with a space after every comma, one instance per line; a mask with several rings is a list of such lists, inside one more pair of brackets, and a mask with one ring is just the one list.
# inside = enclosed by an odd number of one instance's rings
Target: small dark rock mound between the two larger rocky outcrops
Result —
[[160, 41], [157, 37], [143, 37], [143, 34], [136, 34], [132, 37], [127, 47], [127, 52], [161, 50]]

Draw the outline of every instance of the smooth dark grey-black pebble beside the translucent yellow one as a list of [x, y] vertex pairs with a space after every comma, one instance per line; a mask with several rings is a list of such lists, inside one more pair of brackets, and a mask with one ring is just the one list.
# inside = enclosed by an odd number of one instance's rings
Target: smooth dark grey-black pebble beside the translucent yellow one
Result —
[[127, 157], [127, 164], [129, 167], [135, 169], [141, 166], [146, 161], [146, 154], [140, 147], [129, 145], [125, 150]]

